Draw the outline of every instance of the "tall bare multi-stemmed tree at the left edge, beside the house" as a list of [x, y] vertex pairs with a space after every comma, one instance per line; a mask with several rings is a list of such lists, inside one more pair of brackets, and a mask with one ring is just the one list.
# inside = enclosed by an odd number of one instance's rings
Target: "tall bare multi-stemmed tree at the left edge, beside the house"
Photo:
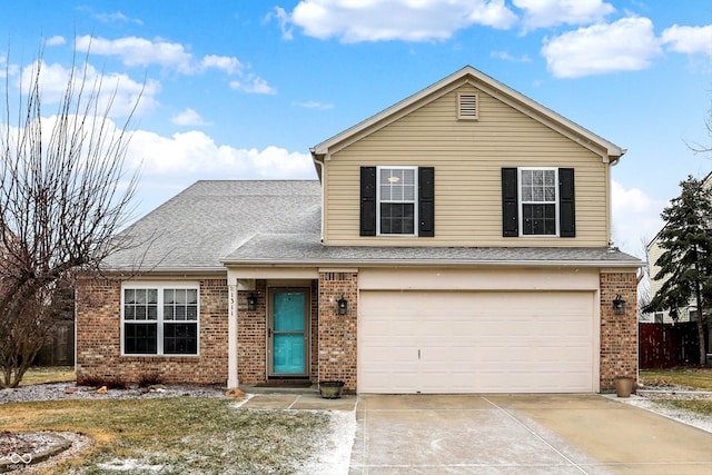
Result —
[[55, 321], [52, 308], [67, 294], [59, 290], [78, 273], [98, 273], [103, 258], [130, 245], [112, 237], [126, 225], [136, 191], [138, 171], [127, 174], [125, 158], [138, 101], [122, 127], [116, 127], [109, 112], [118, 85], [107, 93], [101, 79], [89, 80], [87, 59], [83, 66], [72, 60], [51, 117], [42, 115], [42, 50], [29, 79], [20, 80], [17, 118], [6, 71], [0, 387], [16, 387], [44, 343]]

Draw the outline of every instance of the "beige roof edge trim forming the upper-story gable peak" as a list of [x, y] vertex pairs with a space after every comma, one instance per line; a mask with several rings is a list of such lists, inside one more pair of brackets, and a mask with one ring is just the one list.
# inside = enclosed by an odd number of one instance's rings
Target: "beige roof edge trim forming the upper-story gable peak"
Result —
[[316, 159], [328, 160], [339, 150], [370, 133], [374, 133], [389, 123], [395, 122], [414, 110], [417, 110], [456, 90], [457, 88], [461, 88], [464, 85], [471, 85], [483, 92], [488, 93], [513, 109], [516, 109], [546, 127], [558, 131], [581, 146], [595, 151], [601, 155], [604, 162], [615, 162], [623, 154], [625, 154], [625, 150], [616, 145], [603, 139], [602, 137], [517, 92], [508, 86], [503, 85], [477, 69], [466, 66], [419, 92], [416, 92], [375, 116], [372, 116], [343, 132], [337, 133], [322, 144], [318, 144], [310, 149], [312, 155]]

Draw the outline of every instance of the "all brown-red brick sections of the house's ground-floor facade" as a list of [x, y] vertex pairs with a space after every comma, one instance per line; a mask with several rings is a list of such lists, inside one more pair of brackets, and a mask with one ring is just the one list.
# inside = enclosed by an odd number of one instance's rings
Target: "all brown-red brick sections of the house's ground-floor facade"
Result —
[[[613, 388], [615, 376], [637, 373], [636, 275], [633, 271], [600, 274], [601, 390]], [[320, 271], [310, 284], [310, 373], [313, 383], [339, 379], [345, 390], [356, 390], [358, 274]], [[247, 309], [247, 297], [258, 296], [257, 308]], [[625, 315], [615, 315], [613, 299], [626, 301]], [[348, 301], [338, 315], [337, 300]], [[199, 356], [121, 356], [121, 284], [82, 280], [77, 289], [77, 378], [120, 378], [138, 382], [157, 375], [165, 383], [221, 384], [227, 380], [228, 291], [226, 279], [200, 280]], [[258, 279], [254, 291], [237, 293], [238, 377], [240, 383], [268, 379], [268, 288]]]

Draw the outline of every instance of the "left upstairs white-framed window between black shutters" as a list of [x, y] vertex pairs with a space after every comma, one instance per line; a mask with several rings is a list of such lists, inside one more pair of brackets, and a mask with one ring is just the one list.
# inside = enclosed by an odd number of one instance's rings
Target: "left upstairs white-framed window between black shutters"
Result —
[[417, 167], [377, 167], [378, 235], [415, 236], [418, 200]]

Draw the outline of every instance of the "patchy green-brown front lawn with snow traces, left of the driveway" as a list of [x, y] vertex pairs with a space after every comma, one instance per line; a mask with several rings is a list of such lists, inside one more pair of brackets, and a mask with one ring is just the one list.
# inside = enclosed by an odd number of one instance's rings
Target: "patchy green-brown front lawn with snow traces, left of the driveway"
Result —
[[60, 400], [0, 405], [0, 427], [91, 436], [92, 446], [47, 474], [289, 474], [328, 436], [329, 416], [222, 398]]

